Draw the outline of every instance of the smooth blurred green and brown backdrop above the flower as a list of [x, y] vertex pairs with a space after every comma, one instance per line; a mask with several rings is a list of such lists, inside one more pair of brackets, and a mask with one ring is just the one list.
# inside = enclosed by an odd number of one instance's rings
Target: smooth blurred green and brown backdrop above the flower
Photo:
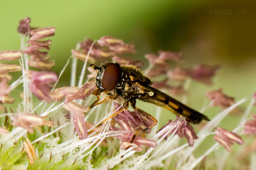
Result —
[[[134, 58], [172, 50], [183, 53], [183, 66], [220, 64], [213, 86], [192, 82], [188, 101], [195, 109], [203, 106], [206, 91], [220, 87], [236, 101], [256, 92], [254, 0], [1, 0], [0, 51], [20, 49], [17, 26], [27, 16], [31, 26], [56, 27], [50, 56], [57, 73], [77, 42], [111, 35], [134, 42]], [[69, 85], [70, 68], [61, 85]], [[146, 110], [150, 112], [150, 107]], [[220, 110], [211, 109], [210, 117]]]

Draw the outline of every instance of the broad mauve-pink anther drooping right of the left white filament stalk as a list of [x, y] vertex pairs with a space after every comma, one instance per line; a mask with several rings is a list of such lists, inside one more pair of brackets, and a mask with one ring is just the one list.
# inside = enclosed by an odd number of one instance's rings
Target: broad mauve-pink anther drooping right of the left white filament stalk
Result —
[[50, 96], [51, 84], [57, 82], [58, 77], [55, 72], [37, 72], [27, 71], [27, 76], [30, 79], [29, 88], [31, 92], [36, 95], [39, 100], [45, 100], [51, 102]]

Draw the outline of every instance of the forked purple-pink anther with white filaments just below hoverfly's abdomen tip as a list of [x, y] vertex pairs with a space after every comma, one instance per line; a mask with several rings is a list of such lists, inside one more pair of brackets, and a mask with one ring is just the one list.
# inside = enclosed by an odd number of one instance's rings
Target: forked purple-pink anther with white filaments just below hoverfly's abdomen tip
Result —
[[194, 146], [194, 140], [198, 138], [194, 128], [185, 121], [184, 118], [179, 116], [176, 116], [174, 121], [169, 120], [165, 126], [157, 131], [157, 133], [160, 134], [159, 138], [164, 137], [165, 139], [167, 139], [167, 136], [171, 135], [173, 132], [181, 138], [186, 137], [190, 147]]

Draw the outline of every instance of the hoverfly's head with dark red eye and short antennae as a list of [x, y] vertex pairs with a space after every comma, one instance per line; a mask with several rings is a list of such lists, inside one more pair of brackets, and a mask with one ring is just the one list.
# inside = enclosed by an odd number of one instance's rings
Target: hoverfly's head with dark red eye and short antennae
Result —
[[96, 76], [96, 86], [102, 91], [111, 91], [121, 81], [122, 69], [118, 63], [105, 63], [100, 67], [90, 65], [94, 70], [98, 70]]

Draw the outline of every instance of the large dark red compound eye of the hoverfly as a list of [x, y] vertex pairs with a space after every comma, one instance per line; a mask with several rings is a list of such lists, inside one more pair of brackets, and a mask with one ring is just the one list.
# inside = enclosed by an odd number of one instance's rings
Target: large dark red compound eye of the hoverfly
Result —
[[122, 70], [118, 63], [110, 63], [105, 68], [104, 75], [102, 77], [102, 87], [104, 90], [113, 90], [121, 79], [121, 73]]

